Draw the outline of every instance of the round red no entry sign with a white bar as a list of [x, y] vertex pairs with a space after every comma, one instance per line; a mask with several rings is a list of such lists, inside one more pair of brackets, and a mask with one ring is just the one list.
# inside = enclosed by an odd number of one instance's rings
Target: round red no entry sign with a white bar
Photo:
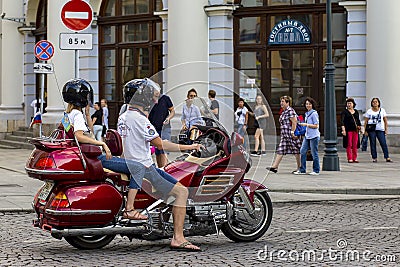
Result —
[[92, 20], [92, 7], [83, 0], [71, 0], [61, 9], [61, 21], [72, 31], [83, 31]]

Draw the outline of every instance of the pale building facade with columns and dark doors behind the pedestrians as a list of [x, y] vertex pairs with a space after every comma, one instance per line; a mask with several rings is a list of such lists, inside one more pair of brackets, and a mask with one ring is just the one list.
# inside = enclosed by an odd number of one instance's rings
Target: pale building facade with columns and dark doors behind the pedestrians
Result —
[[[158, 79], [177, 103], [195, 86], [202, 97], [215, 89], [221, 112], [233, 108], [238, 96], [251, 104], [254, 84], [235, 81], [232, 69], [237, 69], [260, 88], [276, 118], [282, 95], [292, 96], [300, 112], [304, 97], [312, 96], [323, 118], [326, 0], [86, 1], [94, 20], [82, 33], [92, 34], [93, 49], [80, 50], [77, 63], [74, 51], [59, 47], [60, 33], [71, 32], [60, 18], [66, 2], [0, 0], [0, 133], [29, 124], [30, 104], [40, 97], [41, 84], [43, 123], [53, 127], [64, 110], [62, 86], [76, 75], [75, 66], [92, 84], [96, 100], [108, 99], [111, 125], [123, 85], [162, 70], [168, 71]], [[400, 37], [391, 31], [400, 21], [394, 13], [399, 8], [397, 0], [332, 0], [337, 113], [346, 97], [355, 98], [363, 112], [372, 97], [379, 97], [388, 112], [392, 145], [400, 134], [395, 79]], [[33, 72], [39, 62], [33, 47], [40, 40], [54, 44], [49, 61], [54, 74]], [[229, 124], [233, 117], [222, 120]]]

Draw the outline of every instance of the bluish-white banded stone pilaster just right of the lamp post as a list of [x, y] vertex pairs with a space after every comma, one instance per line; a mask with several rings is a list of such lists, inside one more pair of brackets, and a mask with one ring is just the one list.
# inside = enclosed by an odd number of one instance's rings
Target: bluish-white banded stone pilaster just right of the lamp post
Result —
[[[347, 10], [347, 92], [357, 109], [366, 110], [366, 1], [344, 1], [339, 5]], [[367, 106], [368, 107], [368, 106]]]

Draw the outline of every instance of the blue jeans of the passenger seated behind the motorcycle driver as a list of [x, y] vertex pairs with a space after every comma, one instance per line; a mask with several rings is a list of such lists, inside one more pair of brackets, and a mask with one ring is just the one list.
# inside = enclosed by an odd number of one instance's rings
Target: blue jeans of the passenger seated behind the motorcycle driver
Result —
[[127, 175], [130, 174], [130, 189], [140, 189], [142, 187], [143, 177], [146, 173], [146, 167], [142, 163], [118, 157], [106, 159], [106, 155], [104, 154], [98, 156], [98, 159], [101, 161], [101, 164], [106, 169], [112, 170], [114, 172], [124, 173]]

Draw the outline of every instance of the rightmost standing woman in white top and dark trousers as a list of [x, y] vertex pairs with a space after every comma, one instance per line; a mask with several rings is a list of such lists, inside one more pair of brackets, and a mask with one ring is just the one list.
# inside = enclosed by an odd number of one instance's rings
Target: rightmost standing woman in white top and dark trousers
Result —
[[364, 129], [364, 135], [368, 135], [369, 137], [372, 162], [378, 162], [376, 138], [378, 138], [381, 145], [386, 162], [393, 162], [389, 157], [389, 150], [386, 143], [386, 135], [388, 134], [386, 111], [384, 108], [381, 108], [381, 101], [377, 97], [372, 98], [371, 108], [364, 114]]

